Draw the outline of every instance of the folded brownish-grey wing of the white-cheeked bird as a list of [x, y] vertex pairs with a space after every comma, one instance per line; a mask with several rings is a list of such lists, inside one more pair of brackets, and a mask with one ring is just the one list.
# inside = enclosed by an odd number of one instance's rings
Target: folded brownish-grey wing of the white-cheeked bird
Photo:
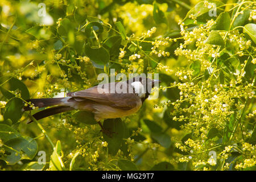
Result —
[[78, 92], [68, 93], [68, 96], [74, 98], [86, 98], [88, 100], [96, 101], [101, 104], [110, 105], [113, 107], [122, 107], [122, 109], [129, 110], [137, 107], [140, 98], [134, 93], [111, 93], [110, 84], [103, 86], [93, 86], [92, 88], [80, 90]]

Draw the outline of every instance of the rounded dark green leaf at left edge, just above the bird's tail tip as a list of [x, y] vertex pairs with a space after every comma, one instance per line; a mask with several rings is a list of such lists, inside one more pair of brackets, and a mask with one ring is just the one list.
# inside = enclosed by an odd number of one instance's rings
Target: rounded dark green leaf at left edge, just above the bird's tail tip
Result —
[[6, 81], [5, 84], [0, 86], [0, 90], [3, 96], [5, 96], [7, 99], [13, 98], [15, 95], [9, 91], [19, 90], [21, 92], [21, 97], [24, 100], [30, 98], [30, 93], [28, 92], [27, 86], [22, 81], [18, 80], [17, 78], [10, 78], [10, 80], [8, 80], [9, 78], [10, 77], [1, 78], [1, 83]]

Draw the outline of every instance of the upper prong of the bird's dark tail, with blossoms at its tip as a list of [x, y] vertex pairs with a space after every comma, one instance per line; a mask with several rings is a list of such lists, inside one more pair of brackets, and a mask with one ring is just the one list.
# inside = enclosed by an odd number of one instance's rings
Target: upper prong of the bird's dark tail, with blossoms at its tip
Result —
[[[48, 107], [48, 106], [55, 106], [55, 105], [62, 105], [63, 98], [32, 98], [30, 100], [26, 100], [27, 102], [31, 102], [31, 104], [35, 107]], [[31, 105], [27, 105], [23, 107], [23, 111], [32, 110]]]

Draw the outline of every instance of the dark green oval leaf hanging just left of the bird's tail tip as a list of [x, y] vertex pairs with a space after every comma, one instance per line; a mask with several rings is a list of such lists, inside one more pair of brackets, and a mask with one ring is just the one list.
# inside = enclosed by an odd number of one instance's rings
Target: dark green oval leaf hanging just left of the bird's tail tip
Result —
[[23, 101], [20, 100], [20, 98], [11, 98], [11, 100], [9, 100], [5, 106], [5, 113], [3, 114], [5, 121], [7, 122], [7, 119], [11, 119], [12, 125], [18, 122], [23, 114], [23, 106]]

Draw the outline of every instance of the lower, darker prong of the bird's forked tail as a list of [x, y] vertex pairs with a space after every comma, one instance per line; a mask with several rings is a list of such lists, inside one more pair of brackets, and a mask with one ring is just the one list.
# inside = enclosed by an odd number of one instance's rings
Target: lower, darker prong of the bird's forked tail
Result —
[[[35, 113], [33, 115], [33, 117], [36, 120], [39, 120], [39, 119], [46, 118], [46, 117], [48, 117], [50, 115], [63, 113], [65, 111], [69, 111], [69, 110], [73, 110], [73, 107], [69, 107], [69, 106], [56, 106], [56, 107], [51, 107], [51, 108], [39, 111], [38, 113]], [[31, 123], [31, 122], [32, 122], [32, 120], [29, 121], [28, 123]]]

